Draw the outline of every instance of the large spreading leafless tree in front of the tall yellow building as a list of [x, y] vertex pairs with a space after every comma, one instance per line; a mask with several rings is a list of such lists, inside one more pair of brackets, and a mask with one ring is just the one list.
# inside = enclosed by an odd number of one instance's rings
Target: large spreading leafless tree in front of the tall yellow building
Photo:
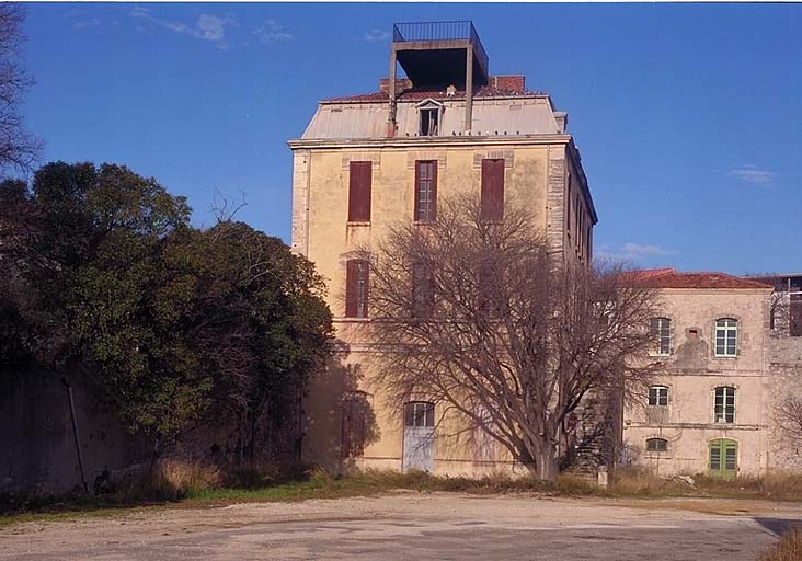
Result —
[[651, 376], [639, 357], [656, 293], [617, 267], [564, 265], [534, 217], [507, 206], [488, 221], [476, 201], [440, 201], [436, 221], [397, 227], [363, 250], [366, 329], [377, 387], [397, 410], [428, 396], [553, 481], [561, 432], [583, 398]]

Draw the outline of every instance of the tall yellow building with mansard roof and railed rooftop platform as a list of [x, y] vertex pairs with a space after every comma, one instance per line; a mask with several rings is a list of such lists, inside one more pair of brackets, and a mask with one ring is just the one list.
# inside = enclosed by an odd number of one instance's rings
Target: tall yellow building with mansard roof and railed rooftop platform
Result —
[[597, 217], [566, 125], [523, 76], [490, 73], [470, 22], [397, 24], [378, 90], [321, 101], [288, 142], [291, 247], [325, 277], [341, 343], [306, 402], [307, 461], [438, 473], [513, 467], [481, 435], [467, 446], [433, 434], [439, 404], [411, 399], [396, 411], [371, 389], [370, 345], [352, 329], [370, 317], [369, 270], [355, 250], [399, 221], [433, 219], [438, 197], [467, 192], [483, 205], [525, 202], [553, 253], [586, 265]]

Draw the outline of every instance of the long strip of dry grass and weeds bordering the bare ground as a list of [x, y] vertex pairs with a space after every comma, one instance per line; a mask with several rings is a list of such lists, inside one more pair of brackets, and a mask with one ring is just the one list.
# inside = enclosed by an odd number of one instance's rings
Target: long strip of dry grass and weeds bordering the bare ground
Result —
[[[118, 482], [103, 494], [70, 493], [60, 496], [0, 496], [0, 525], [25, 516], [64, 513], [102, 513], [114, 508], [159, 505], [175, 501], [202, 501], [209, 504], [230, 502], [303, 501], [343, 496], [374, 495], [392, 490], [419, 492], [465, 492], [472, 494], [536, 493], [540, 495], [628, 497], [685, 497], [691, 510], [719, 512], [726, 505], [714, 505], [704, 499], [770, 499], [802, 501], [802, 473], [772, 472], [764, 478], [721, 480], [694, 476], [690, 485], [678, 479], [666, 480], [646, 471], [620, 471], [608, 489], [582, 477], [562, 474], [554, 483], [545, 483], [532, 476], [509, 477], [493, 473], [482, 478], [438, 477], [412, 471], [366, 470], [332, 476], [322, 469], [279, 468], [274, 465], [250, 465], [221, 471], [214, 465], [180, 460], [159, 461], [147, 477]], [[735, 501], [736, 502], [736, 501]], [[726, 506], [733, 512], [742, 505]], [[683, 503], [685, 504], [685, 503]], [[690, 507], [685, 505], [683, 507]], [[800, 558], [802, 560], [802, 557]]]

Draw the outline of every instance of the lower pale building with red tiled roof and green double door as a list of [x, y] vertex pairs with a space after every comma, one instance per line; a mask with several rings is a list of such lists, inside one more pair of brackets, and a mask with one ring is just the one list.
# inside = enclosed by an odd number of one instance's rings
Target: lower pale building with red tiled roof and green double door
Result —
[[662, 371], [627, 404], [627, 465], [660, 474], [757, 476], [802, 466], [777, 404], [802, 398], [802, 337], [772, 330], [772, 285], [723, 273], [640, 273], [660, 289], [649, 359]]

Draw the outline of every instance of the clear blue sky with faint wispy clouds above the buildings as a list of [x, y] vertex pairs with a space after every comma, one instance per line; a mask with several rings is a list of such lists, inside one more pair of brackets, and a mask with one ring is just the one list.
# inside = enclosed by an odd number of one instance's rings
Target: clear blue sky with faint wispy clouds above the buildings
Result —
[[377, 89], [393, 21], [471, 19], [492, 73], [569, 112], [595, 251], [642, 266], [802, 270], [802, 5], [27, 4], [24, 114], [44, 161], [217, 193], [289, 241], [318, 100]]

